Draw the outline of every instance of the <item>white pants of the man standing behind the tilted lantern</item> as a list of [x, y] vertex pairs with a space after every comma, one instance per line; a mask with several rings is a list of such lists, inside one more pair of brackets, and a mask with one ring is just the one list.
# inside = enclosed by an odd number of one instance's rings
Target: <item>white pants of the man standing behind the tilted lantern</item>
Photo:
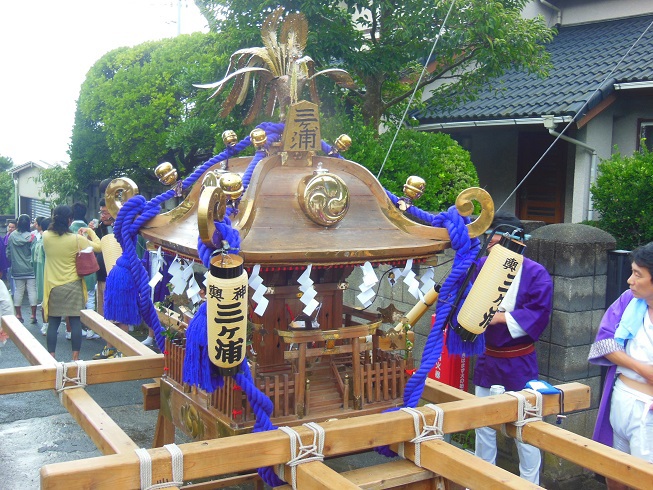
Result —
[[[476, 396], [490, 396], [490, 388], [477, 386]], [[519, 454], [519, 476], [536, 485], [540, 484], [540, 465], [542, 454], [540, 450], [530, 444], [519, 442], [515, 439], [517, 453]], [[476, 429], [476, 450], [474, 454], [488, 463], [497, 464], [497, 432], [489, 427]]]

